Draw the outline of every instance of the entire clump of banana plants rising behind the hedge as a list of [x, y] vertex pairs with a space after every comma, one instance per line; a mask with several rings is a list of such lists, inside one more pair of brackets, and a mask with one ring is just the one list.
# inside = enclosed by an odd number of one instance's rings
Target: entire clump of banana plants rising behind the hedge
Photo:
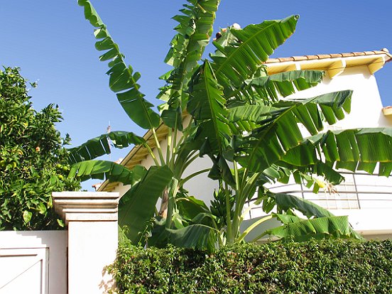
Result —
[[[177, 33], [165, 58], [173, 70], [160, 77], [166, 85], [158, 94], [163, 104], [156, 112], [137, 83], [141, 74], [126, 65], [119, 45], [90, 1], [78, 3], [95, 28], [95, 47], [103, 51], [99, 59], [109, 60], [110, 89], [126, 114], [149, 130], [149, 138], [131, 132], [93, 138], [72, 148], [75, 164], [69, 176], [131, 185], [121, 198], [119, 220], [129, 227], [127, 234], [134, 244], [143, 243], [150, 232], [148, 244], [213, 250], [217, 244], [244, 241], [246, 234], [271, 218], [284, 226], [263, 234], [298, 240], [360, 238], [347, 217], [334, 217], [311, 202], [274, 194], [265, 187], [276, 180], [287, 182], [293, 175], [317, 190], [315, 175], [332, 184], [343, 180], [337, 168], [373, 173], [379, 163], [380, 175], [389, 175], [392, 170], [390, 129], [320, 133], [325, 124], [334, 124], [350, 111], [352, 91], [290, 99], [295, 90], [317, 85], [324, 73], [310, 70], [268, 76], [263, 62], [293, 34], [298, 16], [243, 29], [226, 28], [213, 42], [215, 52], [202, 60], [219, 0], [188, 0], [181, 14], [174, 17]], [[184, 114], [187, 119], [183, 119]], [[167, 129], [167, 146], [160, 146], [157, 128]], [[300, 128], [310, 136], [305, 137]], [[141, 166], [129, 170], [116, 163], [92, 160], [110, 152], [108, 138], [117, 148], [143, 146], [156, 164], [148, 170]], [[212, 167], [183, 178], [187, 166], [202, 156], [211, 158]], [[207, 172], [219, 183], [211, 208], [183, 189], [187, 180]], [[160, 197], [160, 211], [155, 212]], [[248, 201], [262, 205], [267, 213], [275, 207], [277, 213], [258, 219], [241, 233]]]

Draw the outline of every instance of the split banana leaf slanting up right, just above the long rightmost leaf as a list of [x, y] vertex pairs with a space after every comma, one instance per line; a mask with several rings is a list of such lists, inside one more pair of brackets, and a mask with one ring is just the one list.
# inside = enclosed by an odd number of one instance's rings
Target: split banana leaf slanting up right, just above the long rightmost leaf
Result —
[[[237, 157], [238, 162], [255, 172], [263, 171], [281, 160], [286, 152], [303, 141], [298, 123], [305, 126], [310, 134], [317, 134], [324, 127], [323, 116], [330, 124], [344, 118], [344, 111], [350, 110], [351, 97], [352, 91], [346, 90], [322, 94], [302, 101], [281, 101], [273, 104], [278, 111], [275, 109], [271, 111], [266, 107], [268, 111], [265, 114], [258, 114], [261, 121], [258, 121], [257, 116], [254, 115], [257, 109], [249, 112], [249, 107], [253, 107], [251, 105], [230, 109], [236, 111], [241, 119], [247, 119], [245, 114], [250, 113], [248, 118], [256, 118], [256, 122], [261, 125], [242, 141], [236, 142], [237, 151], [241, 152]], [[303, 156], [302, 153], [295, 155], [299, 156], [298, 160]], [[312, 160], [307, 164], [314, 163], [315, 160]]]

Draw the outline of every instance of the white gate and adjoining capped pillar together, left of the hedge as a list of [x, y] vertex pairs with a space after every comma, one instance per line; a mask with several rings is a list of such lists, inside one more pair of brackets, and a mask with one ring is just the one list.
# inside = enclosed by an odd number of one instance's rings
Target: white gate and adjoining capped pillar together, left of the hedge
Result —
[[0, 294], [94, 294], [115, 287], [118, 193], [53, 193], [66, 231], [0, 232]]

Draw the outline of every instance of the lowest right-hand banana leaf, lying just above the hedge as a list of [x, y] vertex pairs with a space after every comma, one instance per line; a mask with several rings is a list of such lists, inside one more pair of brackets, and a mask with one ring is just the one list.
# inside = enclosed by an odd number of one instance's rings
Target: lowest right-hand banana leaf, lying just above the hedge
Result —
[[300, 219], [288, 214], [274, 214], [283, 226], [268, 230], [265, 234], [293, 241], [307, 241], [312, 238], [324, 239], [329, 237], [355, 238], [347, 216], [318, 217], [315, 219]]

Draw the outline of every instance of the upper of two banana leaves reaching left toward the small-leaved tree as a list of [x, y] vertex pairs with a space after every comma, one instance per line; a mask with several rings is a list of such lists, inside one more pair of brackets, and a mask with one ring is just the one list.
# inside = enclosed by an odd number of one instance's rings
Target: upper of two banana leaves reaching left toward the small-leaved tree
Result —
[[68, 149], [70, 153], [70, 163], [77, 163], [82, 160], [91, 160], [104, 154], [110, 154], [109, 140], [115, 148], [126, 148], [130, 144], [146, 143], [143, 137], [136, 136], [129, 131], [112, 131], [108, 134], [102, 134], [96, 138], [92, 138], [86, 143], [75, 148]]

